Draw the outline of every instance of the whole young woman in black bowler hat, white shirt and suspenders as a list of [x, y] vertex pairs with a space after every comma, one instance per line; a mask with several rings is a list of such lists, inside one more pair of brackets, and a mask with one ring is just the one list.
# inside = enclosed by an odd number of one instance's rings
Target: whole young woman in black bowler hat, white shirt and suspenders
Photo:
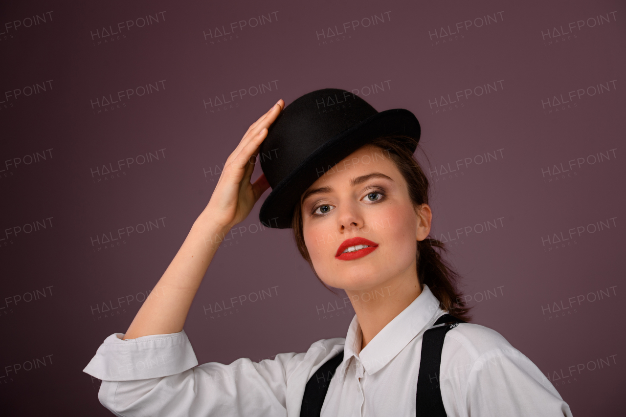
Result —
[[[500, 334], [458, 324], [468, 311], [437, 252], [443, 244], [428, 238], [413, 113], [379, 113], [337, 89], [283, 108], [279, 100], [250, 126], [154, 287], [158, 297], [85, 368], [102, 380], [101, 403], [118, 416], [571, 416]], [[270, 150], [276, 157], [262, 158], [264, 174], [251, 182], [255, 157]], [[306, 353], [198, 366], [183, 331], [193, 297], [220, 237], [270, 186], [261, 220], [294, 229], [304, 259], [324, 285], [346, 291], [356, 316], [345, 339]], [[442, 316], [446, 324], [433, 326]], [[437, 329], [445, 331], [431, 349]]]

